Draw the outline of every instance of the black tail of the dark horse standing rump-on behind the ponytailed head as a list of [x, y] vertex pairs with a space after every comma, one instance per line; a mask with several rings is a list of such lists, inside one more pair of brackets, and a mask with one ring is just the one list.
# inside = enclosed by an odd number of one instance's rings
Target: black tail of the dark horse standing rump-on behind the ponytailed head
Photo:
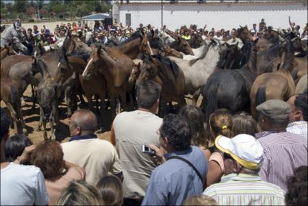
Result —
[[[206, 102], [206, 110], [205, 110], [205, 120], [209, 120], [209, 116], [218, 110], [218, 92], [219, 83], [218, 81], [212, 82], [207, 89], [207, 102]], [[204, 92], [203, 92], [204, 93]]]

